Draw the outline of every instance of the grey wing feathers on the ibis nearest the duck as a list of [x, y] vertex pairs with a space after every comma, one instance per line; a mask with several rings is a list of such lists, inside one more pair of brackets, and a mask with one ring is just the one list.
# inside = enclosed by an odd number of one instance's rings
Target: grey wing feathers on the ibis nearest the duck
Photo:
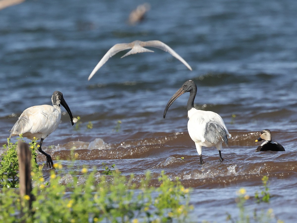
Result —
[[204, 137], [206, 141], [217, 144], [220, 140], [228, 146], [227, 132], [224, 126], [216, 121], [209, 121], [205, 126]]

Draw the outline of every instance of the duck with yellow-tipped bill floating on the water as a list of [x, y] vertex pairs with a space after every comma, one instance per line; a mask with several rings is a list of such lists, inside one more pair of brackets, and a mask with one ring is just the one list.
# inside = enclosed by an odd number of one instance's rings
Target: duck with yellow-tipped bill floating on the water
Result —
[[255, 142], [265, 140], [261, 145], [258, 146], [256, 152], [259, 151], [285, 151], [285, 148], [279, 143], [272, 141], [271, 131], [269, 129], [264, 129], [261, 131], [259, 139], [256, 139]]

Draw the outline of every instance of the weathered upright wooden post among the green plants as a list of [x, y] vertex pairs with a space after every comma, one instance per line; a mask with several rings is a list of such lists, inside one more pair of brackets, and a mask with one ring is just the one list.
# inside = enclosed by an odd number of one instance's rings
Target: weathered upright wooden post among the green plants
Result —
[[18, 161], [19, 161], [19, 187], [20, 187], [20, 200], [22, 208], [31, 210], [33, 196], [31, 194], [31, 158], [32, 154], [29, 146], [23, 142], [18, 142]]

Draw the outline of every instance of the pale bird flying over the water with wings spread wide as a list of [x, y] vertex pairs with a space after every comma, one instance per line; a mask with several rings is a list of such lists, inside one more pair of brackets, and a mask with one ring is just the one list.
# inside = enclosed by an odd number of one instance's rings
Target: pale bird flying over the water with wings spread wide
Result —
[[117, 43], [112, 48], [110, 48], [107, 51], [107, 53], [102, 57], [102, 59], [99, 61], [99, 63], [96, 65], [94, 70], [91, 72], [88, 80], [90, 80], [92, 78], [92, 76], [94, 76], [94, 74], [97, 72], [97, 70], [99, 70], [99, 68], [102, 67], [102, 65], [105, 64], [106, 61], [108, 61], [108, 59], [110, 57], [119, 53], [120, 51], [131, 49], [127, 54], [125, 54], [121, 58], [128, 56], [130, 54], [137, 54], [137, 53], [143, 53], [143, 52], [154, 52], [154, 51], [146, 49], [144, 47], [155, 47], [155, 48], [164, 50], [164, 51], [170, 53], [176, 59], [179, 59], [184, 65], [186, 65], [189, 68], [189, 70], [192, 70], [190, 65], [165, 43], [163, 43], [159, 40], [150, 40], [150, 41], [144, 41], [144, 42], [140, 41], [140, 40], [135, 40], [132, 43]]

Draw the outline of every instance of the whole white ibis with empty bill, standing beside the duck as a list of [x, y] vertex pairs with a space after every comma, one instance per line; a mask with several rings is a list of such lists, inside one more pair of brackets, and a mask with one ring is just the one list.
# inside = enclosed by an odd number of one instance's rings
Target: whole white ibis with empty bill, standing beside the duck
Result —
[[197, 152], [200, 156], [200, 164], [203, 164], [202, 147], [215, 146], [219, 150], [220, 161], [223, 161], [221, 155], [222, 142], [228, 146], [229, 134], [221, 116], [211, 111], [202, 111], [194, 108], [194, 99], [197, 93], [197, 86], [194, 81], [186, 81], [183, 86], [170, 98], [164, 110], [163, 118], [170, 105], [185, 92], [190, 92], [187, 103], [188, 109], [188, 132], [191, 139], [195, 142]]

